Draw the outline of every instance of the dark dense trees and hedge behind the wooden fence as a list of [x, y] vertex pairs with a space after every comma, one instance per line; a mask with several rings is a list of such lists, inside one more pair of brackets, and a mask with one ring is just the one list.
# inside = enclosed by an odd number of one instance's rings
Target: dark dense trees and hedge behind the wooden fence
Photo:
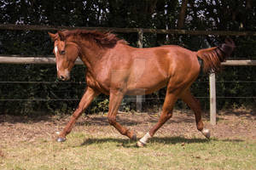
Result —
[[[1, 0], [0, 8], [1, 24], [256, 31], [256, 2], [253, 0]], [[137, 33], [119, 34], [119, 37], [137, 46]], [[232, 59], [256, 59], [255, 37], [232, 38], [237, 45]], [[198, 50], [223, 41], [224, 37], [220, 36], [148, 33], [144, 34], [143, 46], [177, 44]], [[47, 31], [1, 30], [0, 33], [0, 54], [50, 55], [52, 48]], [[73, 80], [65, 83], [55, 81], [55, 65], [0, 64], [0, 68], [0, 114], [69, 112], [78, 105], [86, 86], [84, 66], [76, 65]], [[218, 109], [255, 105], [255, 70], [255, 66], [224, 68], [217, 77]], [[209, 101], [201, 98], [208, 96], [207, 76], [199, 77], [192, 88], [207, 110]], [[229, 98], [222, 98], [224, 96]], [[163, 102], [165, 89], [146, 97], [143, 108], [155, 111]], [[177, 106], [184, 107], [180, 101]], [[134, 100], [126, 98], [122, 109], [134, 110]], [[108, 97], [101, 95], [88, 111], [107, 110]]]

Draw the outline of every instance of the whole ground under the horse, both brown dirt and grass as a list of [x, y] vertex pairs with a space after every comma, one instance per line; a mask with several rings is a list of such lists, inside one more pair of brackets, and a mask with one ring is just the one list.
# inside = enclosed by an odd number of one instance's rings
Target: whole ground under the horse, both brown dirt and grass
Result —
[[[3, 116], [0, 169], [256, 169], [252, 113], [219, 116], [217, 127], [205, 121], [212, 130], [211, 140], [197, 132], [192, 114], [177, 113], [144, 148], [121, 136], [105, 118], [81, 117], [67, 141], [60, 144], [55, 142], [55, 132], [67, 117], [23, 120]], [[122, 114], [119, 122], [143, 136], [157, 118]]]

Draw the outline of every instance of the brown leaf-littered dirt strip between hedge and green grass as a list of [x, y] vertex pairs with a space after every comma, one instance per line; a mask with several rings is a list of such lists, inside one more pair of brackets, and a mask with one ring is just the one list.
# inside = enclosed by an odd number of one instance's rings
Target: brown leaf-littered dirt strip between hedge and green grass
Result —
[[[117, 121], [143, 136], [158, 121], [160, 113], [119, 113]], [[0, 141], [8, 143], [33, 142], [38, 139], [55, 139], [56, 132], [66, 125], [69, 116], [0, 116]], [[218, 113], [217, 126], [210, 124], [209, 117], [203, 116], [205, 127], [215, 139], [256, 139], [256, 114], [253, 111], [222, 111]], [[120, 137], [108, 125], [106, 115], [81, 116], [73, 132], [106, 133]], [[195, 126], [195, 116], [191, 111], [175, 111], [172, 119], [161, 127], [156, 137], [183, 136], [184, 138], [204, 138]], [[125, 138], [125, 137], [124, 137]], [[0, 145], [1, 146], [1, 145]], [[0, 147], [1, 148], [1, 147]], [[3, 152], [0, 149], [0, 156]]]

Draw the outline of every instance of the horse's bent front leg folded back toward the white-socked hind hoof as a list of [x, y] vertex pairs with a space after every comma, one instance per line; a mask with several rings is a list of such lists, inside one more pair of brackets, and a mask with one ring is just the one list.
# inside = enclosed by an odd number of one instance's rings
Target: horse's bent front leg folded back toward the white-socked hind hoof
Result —
[[108, 122], [115, 127], [119, 133], [127, 136], [130, 139], [137, 139], [136, 133], [131, 132], [126, 127], [122, 127], [119, 122], [116, 122], [116, 115], [119, 110], [119, 105], [124, 97], [124, 94], [119, 91], [112, 91], [109, 97], [109, 110], [108, 110]]

